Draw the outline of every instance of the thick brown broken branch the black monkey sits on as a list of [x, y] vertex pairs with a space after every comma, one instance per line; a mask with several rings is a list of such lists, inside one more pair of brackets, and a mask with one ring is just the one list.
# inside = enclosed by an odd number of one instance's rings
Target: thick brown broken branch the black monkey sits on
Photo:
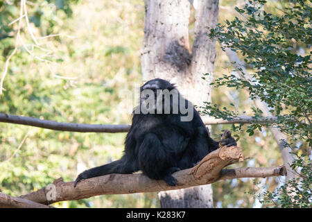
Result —
[[[177, 179], [177, 185], [171, 187], [162, 180], [151, 180], [141, 173], [135, 174], [110, 174], [89, 178], [73, 187], [73, 182], [64, 182], [62, 178], [53, 182], [55, 198], [49, 203], [63, 200], [79, 200], [103, 194], [133, 194], [141, 192], [156, 192], [172, 189], [182, 189], [198, 185], [206, 185], [218, 180], [243, 178], [243, 177], [268, 177], [284, 175], [284, 167], [269, 168], [242, 168], [234, 170], [222, 170], [223, 167], [235, 162], [243, 161], [241, 148], [237, 146], [223, 146], [209, 153], [202, 161], [191, 169], [185, 169], [173, 173]], [[51, 185], [49, 185], [51, 187]], [[47, 189], [44, 187], [31, 194], [20, 196], [37, 203], [47, 204]], [[51, 197], [51, 196], [50, 196]]]

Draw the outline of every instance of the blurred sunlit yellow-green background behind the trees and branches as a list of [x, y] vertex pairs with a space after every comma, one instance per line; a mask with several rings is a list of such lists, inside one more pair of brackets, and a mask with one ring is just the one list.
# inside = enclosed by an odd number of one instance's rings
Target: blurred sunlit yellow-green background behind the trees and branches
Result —
[[[234, 6], [244, 1], [220, 0], [219, 22], [237, 16]], [[286, 4], [270, 1], [270, 8]], [[144, 37], [144, 1], [26, 2], [30, 30], [21, 22], [17, 53], [10, 60], [0, 97], [0, 112], [76, 123], [130, 123], [130, 96], [141, 84], [140, 49]], [[278, 10], [273, 13], [278, 13]], [[0, 70], [15, 47], [19, 1], [0, 1]], [[193, 10], [190, 37], [193, 36]], [[10, 24], [10, 25], [9, 25]], [[46, 35], [60, 34], [55, 37]], [[29, 53], [24, 47], [27, 47]], [[215, 78], [229, 73], [232, 65], [216, 45]], [[213, 89], [213, 102], [233, 103], [229, 110], [251, 114], [252, 101], [245, 90]], [[227, 106], [228, 107], [228, 106]], [[211, 136], [230, 125], [213, 126]], [[0, 123], [0, 192], [19, 196], [41, 189], [57, 178], [72, 181], [78, 173], [117, 160], [125, 133], [70, 133]], [[23, 138], [26, 137], [23, 144]], [[242, 130], [239, 146], [250, 160], [234, 167], [270, 167], [282, 164], [270, 132], [252, 137]], [[17, 148], [20, 146], [19, 150]], [[17, 153], [13, 155], [15, 152]], [[257, 182], [272, 191], [283, 178], [234, 179], [213, 184], [215, 207], [253, 207]], [[156, 193], [96, 196], [63, 201], [55, 207], [159, 207]]]

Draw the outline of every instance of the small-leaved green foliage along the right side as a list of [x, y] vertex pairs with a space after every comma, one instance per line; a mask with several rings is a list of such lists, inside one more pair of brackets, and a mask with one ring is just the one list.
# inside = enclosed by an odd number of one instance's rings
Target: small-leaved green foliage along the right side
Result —
[[[285, 145], [290, 146], [296, 155], [291, 167], [300, 171], [297, 173], [299, 178], [266, 195], [267, 200], [272, 200], [279, 207], [311, 207], [310, 5], [310, 1], [291, 1], [273, 15], [265, 8], [266, 1], [248, 1], [243, 8], [235, 8], [241, 19], [226, 20], [225, 25], [218, 24], [210, 33], [210, 37], [218, 38], [223, 46], [240, 53], [252, 69], [251, 79], [240, 78], [237, 73], [224, 74], [212, 84], [215, 87], [226, 85], [248, 89], [250, 99], [259, 97], [268, 104], [277, 121], [274, 124], [257, 122], [262, 112], [252, 108], [255, 121], [246, 132], [252, 136], [263, 127], [279, 128], [288, 135]], [[243, 73], [243, 69], [239, 72]], [[206, 104], [204, 112], [223, 119], [239, 114], [227, 108], [220, 110], [211, 103]], [[241, 127], [233, 126], [233, 130], [241, 130]]]

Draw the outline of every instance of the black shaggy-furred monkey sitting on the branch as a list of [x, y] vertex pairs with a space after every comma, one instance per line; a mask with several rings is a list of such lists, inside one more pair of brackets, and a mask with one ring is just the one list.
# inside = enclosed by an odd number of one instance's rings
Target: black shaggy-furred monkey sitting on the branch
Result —
[[[83, 179], [110, 173], [133, 173], [139, 170], [151, 179], [164, 180], [168, 185], [175, 186], [177, 180], [172, 173], [193, 167], [205, 155], [219, 147], [219, 142], [209, 137], [200, 115], [187, 100], [185, 100], [185, 108], [192, 108], [193, 119], [191, 121], [181, 120], [181, 117], [186, 116], [180, 109], [180, 99], [183, 97], [175, 86], [166, 80], [156, 78], [141, 86], [140, 105], [135, 108], [135, 111], [141, 108], [141, 105], [144, 105], [146, 99], [149, 98], [150, 94], [144, 94], [146, 89], [155, 95], [155, 103], [146, 105], [150, 110], [154, 110], [155, 114], [134, 112], [130, 131], [125, 138], [123, 157], [110, 164], [80, 173], [73, 184], [74, 187]], [[178, 102], [174, 103], [174, 96], [171, 94], [169, 114], [164, 112], [163, 95], [159, 97], [157, 89], [168, 89], [169, 92], [175, 92], [175, 95], [178, 96]], [[160, 100], [157, 101], [159, 98]], [[163, 105], [162, 114], [156, 112], [156, 105], [159, 101]], [[173, 112], [173, 104], [178, 106], [177, 112]], [[236, 141], [230, 133], [220, 142], [227, 146], [236, 145]]]

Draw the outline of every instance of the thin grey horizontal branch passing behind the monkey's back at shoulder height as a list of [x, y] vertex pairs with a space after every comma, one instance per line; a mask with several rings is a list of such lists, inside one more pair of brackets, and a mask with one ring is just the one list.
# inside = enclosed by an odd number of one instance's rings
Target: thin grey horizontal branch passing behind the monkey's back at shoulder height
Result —
[[[214, 117], [202, 117], [206, 125], [232, 124], [232, 123], [251, 123], [251, 122], [273, 122], [276, 117], [263, 117], [254, 119], [253, 117], [239, 116], [228, 121], [224, 119], [215, 119]], [[35, 126], [50, 130], [71, 131], [80, 133], [125, 133], [130, 129], [130, 124], [108, 125], [108, 124], [84, 124], [84, 123], [62, 123], [57, 121], [38, 119], [34, 117], [21, 117], [11, 114], [0, 113], [0, 122], [14, 123], [26, 126]]]

